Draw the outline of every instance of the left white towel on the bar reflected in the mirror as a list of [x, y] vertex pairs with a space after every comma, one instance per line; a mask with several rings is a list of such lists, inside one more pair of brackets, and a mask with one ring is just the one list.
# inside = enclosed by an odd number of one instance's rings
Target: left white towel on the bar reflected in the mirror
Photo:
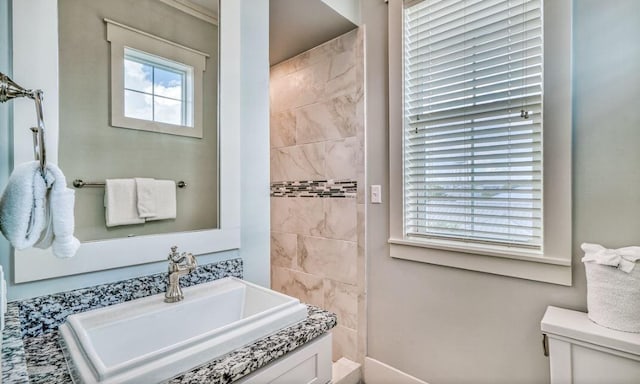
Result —
[[144, 219], [138, 216], [134, 179], [107, 179], [104, 207], [107, 227], [144, 223]]

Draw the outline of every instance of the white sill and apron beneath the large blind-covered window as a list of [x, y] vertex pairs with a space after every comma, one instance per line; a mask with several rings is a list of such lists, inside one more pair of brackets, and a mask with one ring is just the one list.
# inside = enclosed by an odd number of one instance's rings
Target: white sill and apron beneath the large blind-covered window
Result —
[[422, 263], [571, 286], [571, 260], [502, 247], [447, 241], [389, 239], [391, 257]]

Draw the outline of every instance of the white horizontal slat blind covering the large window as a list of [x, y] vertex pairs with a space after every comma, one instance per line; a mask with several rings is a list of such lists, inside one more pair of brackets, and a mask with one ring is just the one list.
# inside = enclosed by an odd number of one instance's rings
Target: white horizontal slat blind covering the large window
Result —
[[405, 1], [408, 237], [541, 250], [541, 8]]

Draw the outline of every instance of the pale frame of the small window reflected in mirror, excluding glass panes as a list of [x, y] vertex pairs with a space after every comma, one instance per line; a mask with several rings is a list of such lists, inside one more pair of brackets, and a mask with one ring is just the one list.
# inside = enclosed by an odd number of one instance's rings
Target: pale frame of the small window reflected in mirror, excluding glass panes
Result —
[[[107, 40], [111, 43], [111, 125], [202, 138], [203, 73], [209, 55], [113, 20], [105, 19], [105, 22]], [[185, 111], [180, 124], [156, 121], [154, 117], [133, 118], [125, 113], [124, 63], [130, 57], [184, 73], [184, 98], [180, 102]]]

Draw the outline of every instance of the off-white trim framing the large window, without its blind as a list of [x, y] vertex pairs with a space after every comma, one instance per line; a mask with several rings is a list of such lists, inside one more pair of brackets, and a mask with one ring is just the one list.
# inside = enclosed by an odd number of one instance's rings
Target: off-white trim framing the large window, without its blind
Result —
[[571, 0], [543, 0], [544, 253], [415, 240], [403, 217], [403, 0], [389, 0], [390, 256], [571, 286]]

